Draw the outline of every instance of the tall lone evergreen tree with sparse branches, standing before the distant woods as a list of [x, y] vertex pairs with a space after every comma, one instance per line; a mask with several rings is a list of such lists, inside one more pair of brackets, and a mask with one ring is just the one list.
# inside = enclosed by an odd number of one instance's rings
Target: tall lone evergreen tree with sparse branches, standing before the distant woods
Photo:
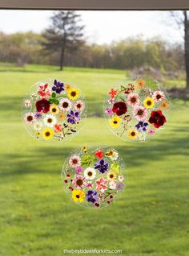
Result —
[[47, 52], [60, 52], [60, 70], [63, 69], [65, 52], [74, 52], [83, 43], [80, 15], [74, 11], [60, 10], [51, 17], [52, 24], [43, 33]]

